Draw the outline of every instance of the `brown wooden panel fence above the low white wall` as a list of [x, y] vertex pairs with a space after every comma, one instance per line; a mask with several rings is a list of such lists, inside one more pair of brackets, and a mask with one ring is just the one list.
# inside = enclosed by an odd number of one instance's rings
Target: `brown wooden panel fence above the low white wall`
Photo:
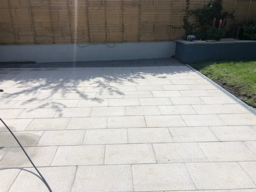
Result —
[[[207, 2], [190, 0], [189, 9]], [[222, 4], [234, 13], [228, 27], [256, 17], [256, 0]], [[185, 36], [186, 7], [186, 0], [0, 0], [0, 44], [170, 41]]]

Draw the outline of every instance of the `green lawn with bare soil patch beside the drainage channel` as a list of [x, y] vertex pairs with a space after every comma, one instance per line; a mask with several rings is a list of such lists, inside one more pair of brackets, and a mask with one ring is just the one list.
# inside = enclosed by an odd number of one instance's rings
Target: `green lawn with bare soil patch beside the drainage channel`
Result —
[[256, 60], [203, 61], [190, 65], [256, 108]]

